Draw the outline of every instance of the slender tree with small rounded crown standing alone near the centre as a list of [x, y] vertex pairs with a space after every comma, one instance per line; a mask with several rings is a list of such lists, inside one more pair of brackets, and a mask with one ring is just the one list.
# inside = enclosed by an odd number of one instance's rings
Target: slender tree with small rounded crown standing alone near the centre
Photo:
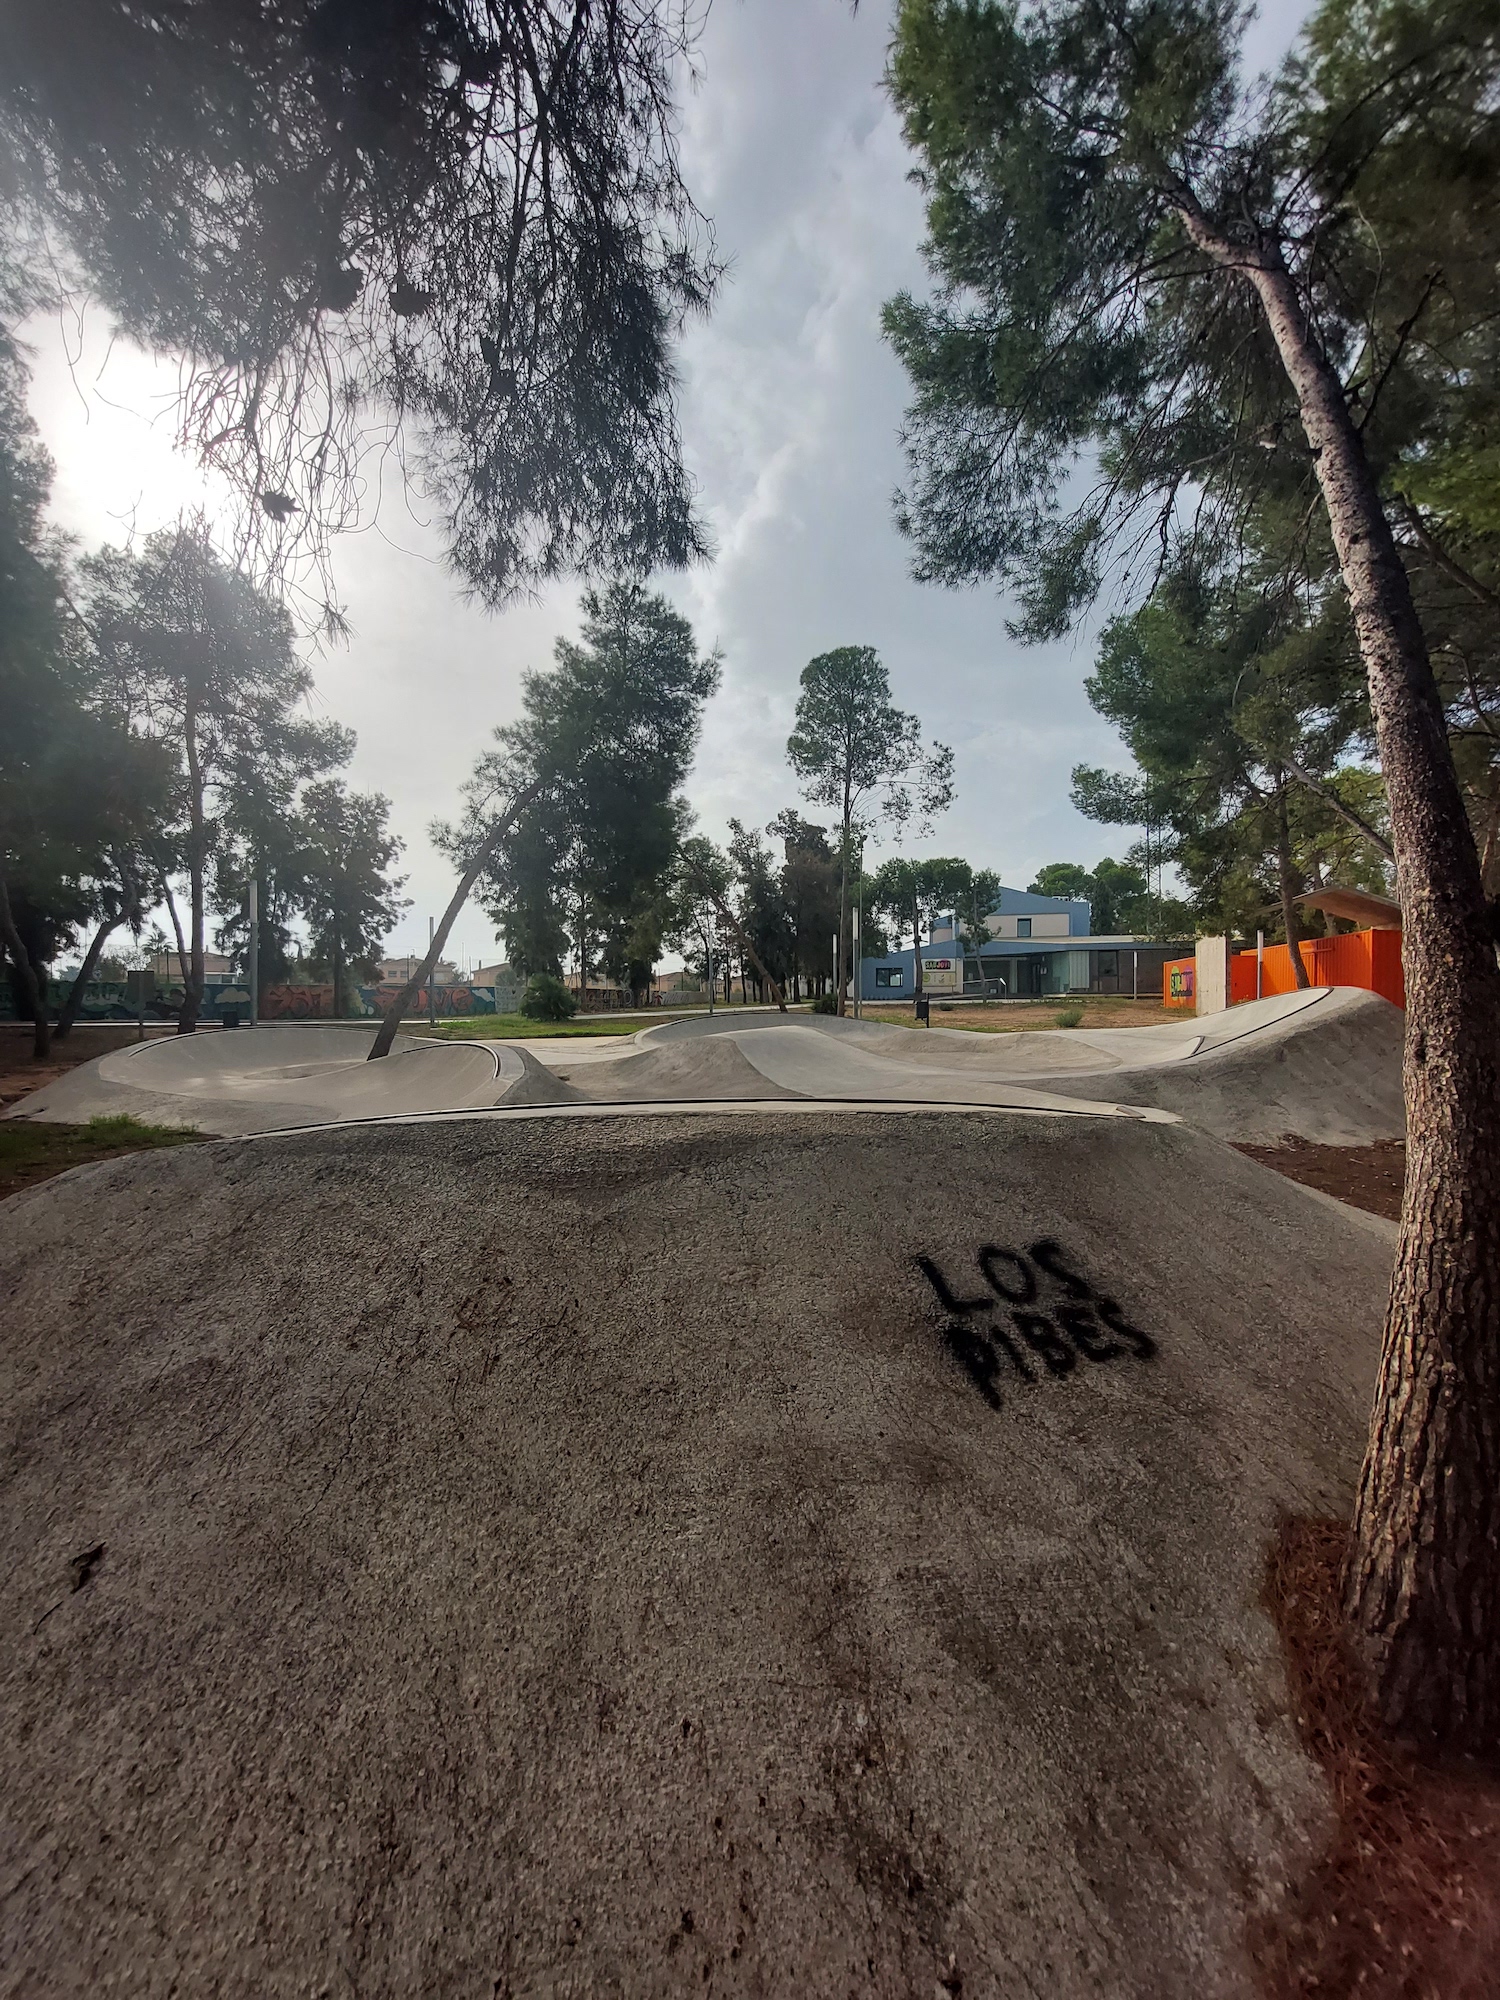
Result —
[[954, 796], [954, 754], [922, 748], [922, 724], [890, 700], [874, 646], [838, 646], [802, 668], [786, 758], [816, 806], [838, 812], [838, 1012], [846, 1012], [848, 878], [856, 838], [878, 824], [926, 830]]

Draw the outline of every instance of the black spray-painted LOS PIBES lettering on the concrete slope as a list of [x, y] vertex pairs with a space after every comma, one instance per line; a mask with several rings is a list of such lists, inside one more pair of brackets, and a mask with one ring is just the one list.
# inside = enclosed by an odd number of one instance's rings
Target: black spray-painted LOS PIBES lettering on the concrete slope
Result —
[[1132, 1326], [1052, 1236], [1024, 1254], [984, 1244], [974, 1262], [982, 1290], [952, 1282], [930, 1256], [916, 1258], [916, 1268], [942, 1306], [944, 1346], [992, 1410], [1004, 1384], [1058, 1380], [1080, 1362], [1148, 1362], [1156, 1354], [1152, 1336]]

